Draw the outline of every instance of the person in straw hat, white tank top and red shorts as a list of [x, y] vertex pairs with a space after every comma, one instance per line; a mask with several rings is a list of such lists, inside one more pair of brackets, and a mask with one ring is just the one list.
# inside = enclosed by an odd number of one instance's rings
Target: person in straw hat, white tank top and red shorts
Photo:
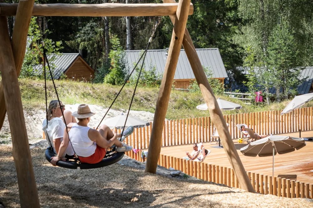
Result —
[[[78, 110], [73, 112], [72, 115], [78, 119], [78, 123], [69, 123], [67, 128], [64, 129], [64, 137], [59, 148], [57, 156], [52, 157], [51, 164], [56, 165], [57, 161], [65, 159], [62, 154], [66, 150], [69, 142], [71, 142], [75, 153], [77, 154], [80, 162], [95, 164], [100, 162], [106, 153], [105, 149], [110, 148], [112, 145], [116, 146], [115, 151], [125, 152], [132, 150], [132, 146], [127, 146], [121, 143], [127, 136], [131, 135], [134, 127], [128, 127], [123, 136], [112, 131], [108, 126], [101, 125], [99, 130], [92, 129], [87, 126], [90, 117], [95, 113], [90, 111], [86, 104], [80, 104]], [[68, 133], [67, 133], [68, 132]], [[117, 138], [122, 136], [122, 140]]]

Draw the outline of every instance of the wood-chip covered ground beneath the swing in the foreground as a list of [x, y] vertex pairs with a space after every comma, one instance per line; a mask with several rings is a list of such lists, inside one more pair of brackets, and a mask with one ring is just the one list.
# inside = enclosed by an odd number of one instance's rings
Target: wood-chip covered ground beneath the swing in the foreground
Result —
[[[127, 156], [116, 164], [91, 170], [53, 167], [44, 158], [42, 141], [31, 154], [42, 207], [313, 207], [305, 199], [248, 193], [189, 176], [172, 177], [158, 167], [145, 173], [145, 163]], [[19, 207], [12, 147], [0, 145], [0, 204]]]

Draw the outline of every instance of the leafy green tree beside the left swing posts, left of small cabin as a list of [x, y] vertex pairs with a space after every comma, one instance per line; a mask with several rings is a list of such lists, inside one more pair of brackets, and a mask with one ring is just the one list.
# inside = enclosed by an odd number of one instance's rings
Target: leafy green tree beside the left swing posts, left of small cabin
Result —
[[[46, 30], [44, 32], [41, 32], [39, 30], [38, 24], [36, 22], [37, 17], [32, 17], [28, 29], [28, 42], [26, 47], [26, 53], [22, 65], [22, 69], [20, 72], [20, 78], [43, 78], [43, 71], [42, 70], [34, 70], [33, 67], [38, 64], [43, 64], [39, 62], [39, 60], [42, 60], [42, 54], [43, 54], [43, 47], [41, 44], [41, 40], [44, 41], [44, 47], [46, 50], [47, 56], [50, 54], [56, 54], [60, 55], [59, 50], [61, 50], [63, 47], [61, 46], [62, 42], [57, 41], [53, 42], [51, 39], [43, 38], [43, 35], [49, 33], [49, 30]], [[51, 68], [51, 71], [53, 73], [53, 70], [55, 69], [55, 65], [52, 63], [54, 61], [55, 57], [51, 57], [49, 59], [49, 66]], [[49, 72], [48, 68], [47, 73]], [[47, 77], [50, 77], [47, 75]]]

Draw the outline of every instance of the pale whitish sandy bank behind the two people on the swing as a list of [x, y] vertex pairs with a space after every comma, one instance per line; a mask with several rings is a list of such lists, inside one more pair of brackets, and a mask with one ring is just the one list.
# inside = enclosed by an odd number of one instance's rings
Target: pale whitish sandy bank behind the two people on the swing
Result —
[[[79, 104], [65, 105], [65, 110], [71, 112], [77, 111], [78, 105]], [[91, 111], [96, 113], [96, 115], [92, 116], [88, 126], [95, 127], [99, 124], [99, 122], [101, 121], [102, 117], [105, 115], [105, 112], [108, 109], [97, 105], [89, 105], [89, 107]], [[105, 119], [121, 115], [121, 113], [124, 113], [126, 115], [127, 111], [123, 109], [118, 111], [110, 109], [108, 114], [105, 116]], [[129, 116], [139, 118], [144, 121], [153, 121], [154, 113], [146, 111], [130, 111]], [[29, 142], [34, 143], [36, 142], [36, 140], [41, 139], [42, 122], [46, 118], [46, 113], [43, 110], [24, 111], [24, 118]], [[11, 134], [8, 116], [6, 116], [3, 127], [0, 131], [0, 144], [11, 144]]]

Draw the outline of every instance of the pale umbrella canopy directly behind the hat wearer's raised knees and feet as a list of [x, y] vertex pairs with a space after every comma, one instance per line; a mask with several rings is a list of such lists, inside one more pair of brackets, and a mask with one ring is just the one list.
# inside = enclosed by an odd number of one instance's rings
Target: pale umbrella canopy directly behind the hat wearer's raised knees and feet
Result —
[[[126, 115], [121, 113], [121, 115], [119, 116], [115, 116], [113, 118], [103, 121], [103, 124], [109, 126], [110, 128], [115, 127], [117, 129], [123, 129], [125, 120], [126, 120]], [[141, 128], [141, 127], [149, 126], [149, 125], [150, 125], [150, 122], [128, 116], [125, 128], [127, 128], [128, 126], [134, 126], [134, 128]]]

